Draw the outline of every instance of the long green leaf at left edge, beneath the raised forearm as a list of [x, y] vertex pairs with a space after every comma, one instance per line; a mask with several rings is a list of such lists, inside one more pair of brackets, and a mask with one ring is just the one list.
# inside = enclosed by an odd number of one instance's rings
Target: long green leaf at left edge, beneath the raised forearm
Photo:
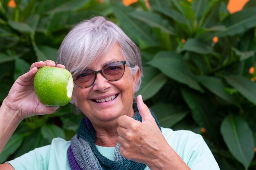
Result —
[[1, 152], [0, 163], [4, 163], [4, 161], [6, 161], [6, 159], [20, 147], [24, 137], [24, 134], [17, 133], [14, 133], [11, 136], [11, 138], [9, 139], [9, 141], [4, 146], [4, 149]]

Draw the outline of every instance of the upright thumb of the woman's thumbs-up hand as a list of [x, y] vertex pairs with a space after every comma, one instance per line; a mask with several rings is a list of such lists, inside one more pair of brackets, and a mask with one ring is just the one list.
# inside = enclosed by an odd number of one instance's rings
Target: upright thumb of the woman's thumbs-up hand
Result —
[[137, 96], [137, 107], [139, 109], [139, 114], [142, 117], [142, 122], [150, 121], [153, 118], [153, 116], [150, 113], [150, 110], [148, 109], [148, 106], [144, 104], [141, 95]]

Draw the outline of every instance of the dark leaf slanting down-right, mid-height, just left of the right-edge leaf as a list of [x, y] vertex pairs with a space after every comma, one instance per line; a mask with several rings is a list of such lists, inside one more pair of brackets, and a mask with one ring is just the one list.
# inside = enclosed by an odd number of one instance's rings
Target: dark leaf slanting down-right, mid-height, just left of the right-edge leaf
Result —
[[196, 79], [213, 94], [229, 103], [235, 105], [237, 104], [236, 99], [225, 91], [225, 83], [222, 81], [222, 79], [210, 76], [198, 76]]

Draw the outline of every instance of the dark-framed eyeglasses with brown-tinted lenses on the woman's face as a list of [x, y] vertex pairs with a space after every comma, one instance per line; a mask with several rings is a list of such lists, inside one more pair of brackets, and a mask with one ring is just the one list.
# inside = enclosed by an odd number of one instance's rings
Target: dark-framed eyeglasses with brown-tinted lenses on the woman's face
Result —
[[94, 84], [98, 73], [101, 73], [101, 75], [103, 75], [103, 77], [105, 77], [105, 79], [107, 79], [108, 81], [117, 81], [121, 79], [124, 75], [125, 64], [130, 67], [130, 64], [128, 62], [118, 61], [106, 64], [99, 71], [87, 69], [85, 71], [82, 71], [81, 73], [73, 75], [74, 83], [81, 88], [90, 87], [92, 86], [92, 84]]

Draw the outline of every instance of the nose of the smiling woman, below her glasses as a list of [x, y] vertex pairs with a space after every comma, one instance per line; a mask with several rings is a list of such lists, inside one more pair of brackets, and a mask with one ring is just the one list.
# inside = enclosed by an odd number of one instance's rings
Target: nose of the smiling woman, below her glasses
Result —
[[106, 91], [110, 86], [109, 81], [101, 73], [98, 73], [92, 89], [94, 91]]

